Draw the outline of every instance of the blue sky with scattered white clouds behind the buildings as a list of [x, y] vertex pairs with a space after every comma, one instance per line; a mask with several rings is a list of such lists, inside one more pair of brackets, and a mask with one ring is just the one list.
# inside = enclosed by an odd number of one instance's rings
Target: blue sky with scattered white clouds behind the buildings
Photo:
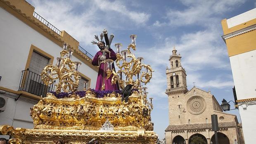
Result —
[[[208, 91], [221, 100], [234, 100], [232, 71], [220, 21], [256, 7], [255, 0], [28, 0], [35, 12], [80, 42], [92, 55], [94, 35], [103, 28], [114, 33], [112, 44], [123, 47], [137, 35], [136, 57], [154, 69], [147, 87], [154, 97], [152, 121], [160, 139], [168, 126], [166, 66], [173, 45], [182, 56], [187, 86]], [[114, 45], [112, 45], [114, 49]], [[229, 111], [239, 117], [237, 110]]]

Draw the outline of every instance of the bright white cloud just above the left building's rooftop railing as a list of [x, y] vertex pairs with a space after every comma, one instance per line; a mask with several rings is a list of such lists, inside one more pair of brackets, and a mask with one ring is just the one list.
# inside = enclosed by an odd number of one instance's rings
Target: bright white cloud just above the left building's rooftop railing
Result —
[[[78, 41], [90, 44], [95, 33], [98, 33], [104, 26], [97, 23], [98, 17], [94, 17], [96, 9], [91, 7], [85, 12], [75, 14], [75, 5], [67, 1], [48, 1], [33, 0], [32, 5], [35, 11], [47, 19], [60, 31], [65, 30]], [[95, 47], [96, 49], [97, 47]]]

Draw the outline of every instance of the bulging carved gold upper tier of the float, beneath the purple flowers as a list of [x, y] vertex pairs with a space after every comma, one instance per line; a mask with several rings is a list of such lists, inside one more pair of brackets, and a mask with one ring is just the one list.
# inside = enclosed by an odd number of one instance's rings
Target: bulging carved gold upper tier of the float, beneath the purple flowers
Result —
[[119, 94], [104, 98], [90, 95], [78, 99], [57, 99], [48, 93], [31, 108], [36, 129], [99, 130], [108, 119], [114, 130], [137, 130], [143, 126], [153, 130], [151, 109], [142, 100], [141, 94], [132, 94], [129, 103], [121, 102]]

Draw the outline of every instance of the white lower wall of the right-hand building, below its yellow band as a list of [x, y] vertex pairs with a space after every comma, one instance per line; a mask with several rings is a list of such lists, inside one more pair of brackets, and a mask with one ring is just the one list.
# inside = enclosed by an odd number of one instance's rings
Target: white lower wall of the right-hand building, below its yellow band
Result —
[[[256, 97], [256, 50], [230, 57], [237, 99]], [[250, 102], [249, 102], [250, 103]], [[256, 131], [256, 103], [239, 106], [245, 144], [253, 144]]]

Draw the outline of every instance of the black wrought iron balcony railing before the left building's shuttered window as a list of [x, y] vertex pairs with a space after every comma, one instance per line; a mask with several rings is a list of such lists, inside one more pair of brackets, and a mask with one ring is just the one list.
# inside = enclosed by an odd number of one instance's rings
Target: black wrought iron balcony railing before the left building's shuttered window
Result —
[[41, 76], [28, 69], [22, 71], [19, 83], [19, 91], [29, 92], [38, 96], [45, 97], [47, 92], [54, 90], [55, 82], [51, 85], [45, 85], [41, 80]]

